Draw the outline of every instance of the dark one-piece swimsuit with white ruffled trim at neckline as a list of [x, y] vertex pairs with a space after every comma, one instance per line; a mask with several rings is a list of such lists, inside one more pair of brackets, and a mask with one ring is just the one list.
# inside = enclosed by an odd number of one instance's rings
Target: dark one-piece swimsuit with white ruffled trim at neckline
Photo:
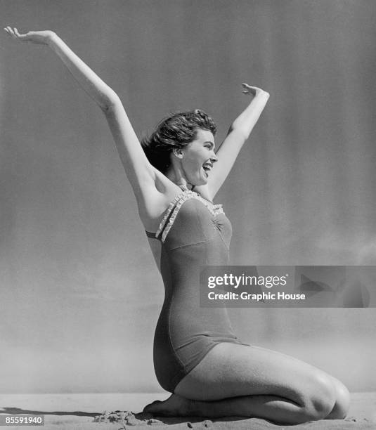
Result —
[[155, 329], [154, 368], [160, 385], [171, 393], [216, 344], [242, 344], [225, 307], [200, 306], [200, 270], [228, 263], [231, 223], [221, 204], [191, 190], [167, 208], [156, 233], [162, 242], [160, 268], [164, 303]]

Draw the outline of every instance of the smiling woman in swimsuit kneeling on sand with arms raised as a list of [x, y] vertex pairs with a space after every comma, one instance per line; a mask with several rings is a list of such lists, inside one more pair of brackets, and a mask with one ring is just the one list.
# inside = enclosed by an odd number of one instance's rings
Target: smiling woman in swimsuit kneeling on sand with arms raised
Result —
[[261, 417], [298, 424], [342, 419], [349, 392], [328, 374], [280, 353], [242, 344], [224, 308], [197, 304], [200, 264], [226, 264], [231, 224], [213, 197], [228, 176], [268, 100], [243, 84], [252, 100], [214, 152], [212, 119], [182, 112], [165, 119], [140, 145], [122, 102], [51, 31], [18, 41], [49, 46], [103, 110], [136, 195], [138, 212], [162, 274], [166, 295], [155, 332], [155, 372], [172, 394], [145, 408], [155, 415]]

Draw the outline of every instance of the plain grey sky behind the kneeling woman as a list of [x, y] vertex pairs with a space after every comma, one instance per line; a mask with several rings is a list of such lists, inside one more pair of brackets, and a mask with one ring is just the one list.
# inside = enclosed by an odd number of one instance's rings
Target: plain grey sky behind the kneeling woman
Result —
[[[139, 136], [201, 107], [220, 143], [240, 83], [266, 89], [216, 197], [231, 263], [375, 263], [375, 1], [1, 0], [0, 17], [55, 30]], [[163, 286], [101, 111], [52, 51], [4, 33], [0, 121], [1, 391], [157, 391]], [[244, 341], [375, 390], [375, 309], [230, 313]]]

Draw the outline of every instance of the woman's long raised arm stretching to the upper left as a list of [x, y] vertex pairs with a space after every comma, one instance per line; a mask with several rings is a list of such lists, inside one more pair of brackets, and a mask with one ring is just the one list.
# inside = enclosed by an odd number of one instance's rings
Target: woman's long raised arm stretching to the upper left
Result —
[[119, 157], [141, 208], [145, 202], [150, 205], [157, 198], [155, 168], [149, 163], [121, 100], [110, 86], [105, 84], [91, 68], [84, 63], [55, 32], [38, 31], [20, 34], [16, 28], [4, 30], [19, 41], [49, 46], [63, 61], [74, 79], [82, 86], [105, 114], [112, 136], [115, 139]]

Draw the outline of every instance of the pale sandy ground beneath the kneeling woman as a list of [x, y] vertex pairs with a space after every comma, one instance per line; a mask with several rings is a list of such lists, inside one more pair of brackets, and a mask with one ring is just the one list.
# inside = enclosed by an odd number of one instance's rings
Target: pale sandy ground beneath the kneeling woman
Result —
[[[150, 416], [138, 414], [143, 405], [152, 400], [164, 400], [167, 393], [103, 393], [103, 394], [1, 394], [1, 415], [44, 415], [44, 429], [150, 429]], [[93, 417], [104, 410], [128, 410], [136, 413], [133, 422], [125, 426], [119, 422], [93, 422]], [[155, 417], [158, 418], [158, 417]], [[286, 427], [299, 430], [334, 429], [373, 429], [376, 430], [376, 392], [352, 393], [351, 408], [345, 420], [325, 420], [308, 422], [297, 426], [278, 426], [264, 419], [228, 418], [205, 420], [202, 418], [160, 418], [161, 422], [151, 424], [158, 429], [252, 429], [282, 430]], [[12, 429], [25, 429], [25, 426], [11, 426]], [[34, 427], [35, 428], [35, 427]]]

